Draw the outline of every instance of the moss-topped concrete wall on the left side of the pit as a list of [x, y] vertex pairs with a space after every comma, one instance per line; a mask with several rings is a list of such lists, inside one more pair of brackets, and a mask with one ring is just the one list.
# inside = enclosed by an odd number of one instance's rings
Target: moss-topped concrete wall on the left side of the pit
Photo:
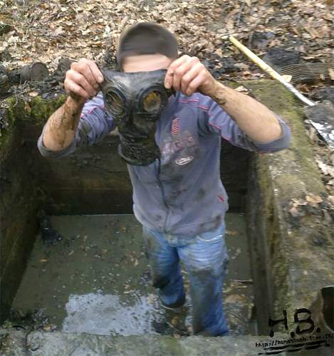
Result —
[[12, 97], [1, 103], [5, 115], [0, 136], [0, 319], [6, 318], [24, 273], [41, 200], [36, 160], [24, 141], [26, 127], [41, 127], [64, 100], [65, 95], [53, 100], [36, 97], [28, 101]]

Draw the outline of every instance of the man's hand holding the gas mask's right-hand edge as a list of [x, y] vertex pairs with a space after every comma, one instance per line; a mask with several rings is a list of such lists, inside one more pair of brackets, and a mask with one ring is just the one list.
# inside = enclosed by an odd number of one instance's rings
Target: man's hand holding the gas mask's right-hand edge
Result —
[[173, 61], [165, 76], [165, 88], [181, 90], [185, 95], [199, 91], [203, 95], [214, 92], [216, 80], [197, 57], [182, 56]]

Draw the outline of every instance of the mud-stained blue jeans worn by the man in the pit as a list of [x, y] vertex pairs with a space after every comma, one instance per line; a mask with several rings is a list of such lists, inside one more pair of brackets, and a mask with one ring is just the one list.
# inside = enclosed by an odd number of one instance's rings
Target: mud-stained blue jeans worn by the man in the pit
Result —
[[179, 261], [189, 275], [194, 335], [228, 334], [222, 289], [229, 261], [225, 244], [225, 224], [197, 236], [163, 234], [143, 226], [152, 284], [166, 305], [184, 298]]

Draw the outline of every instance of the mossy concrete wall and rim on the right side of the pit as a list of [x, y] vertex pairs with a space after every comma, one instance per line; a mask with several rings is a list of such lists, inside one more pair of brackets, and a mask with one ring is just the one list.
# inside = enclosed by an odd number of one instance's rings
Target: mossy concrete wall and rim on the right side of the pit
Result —
[[[246, 83], [256, 98], [281, 115], [291, 127], [292, 140], [288, 149], [274, 154], [256, 155], [259, 186], [265, 197], [261, 209], [266, 219], [263, 243], [273, 246], [271, 266], [276, 318], [282, 310], [288, 311], [292, 330], [296, 308], [308, 308], [318, 290], [334, 281], [333, 226], [323, 225], [319, 214], [293, 217], [291, 199], [305, 199], [306, 194], [327, 195], [320, 171], [315, 163], [313, 149], [303, 125], [301, 104], [283, 85], [273, 80]], [[270, 221], [271, 210], [274, 219]], [[314, 243], [327, 236], [323, 246]], [[294, 326], [293, 326], [294, 325]], [[282, 330], [283, 331], [283, 330]]]

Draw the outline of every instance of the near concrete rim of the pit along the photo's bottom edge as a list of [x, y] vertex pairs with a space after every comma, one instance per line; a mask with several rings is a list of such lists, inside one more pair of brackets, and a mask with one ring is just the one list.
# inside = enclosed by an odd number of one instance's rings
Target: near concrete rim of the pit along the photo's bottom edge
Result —
[[[273, 341], [271, 337], [231, 335], [224, 337], [191, 336], [174, 337], [162, 335], [101, 336], [87, 333], [32, 333], [0, 330], [4, 346], [1, 355], [26, 355], [33, 350], [36, 356], [56, 355], [259, 355], [265, 352]], [[25, 342], [26, 337], [26, 342]], [[277, 333], [276, 340], [288, 340], [286, 335]], [[266, 342], [266, 345], [263, 343]], [[333, 342], [331, 342], [332, 344]], [[327, 347], [329, 349], [330, 347]], [[330, 352], [330, 350], [328, 350]], [[323, 355], [331, 355], [326, 352]]]

